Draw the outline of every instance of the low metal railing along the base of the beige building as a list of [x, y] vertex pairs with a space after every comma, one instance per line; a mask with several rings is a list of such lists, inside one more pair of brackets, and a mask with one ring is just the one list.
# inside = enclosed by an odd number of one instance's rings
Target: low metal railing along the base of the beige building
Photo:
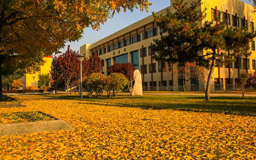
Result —
[[[211, 84], [210, 90], [235, 90], [239, 88], [238, 84]], [[142, 89], [143, 91], [183, 91], [183, 86], [144, 86]], [[206, 89], [206, 85], [185, 85], [185, 89], [186, 91], [204, 91]]]

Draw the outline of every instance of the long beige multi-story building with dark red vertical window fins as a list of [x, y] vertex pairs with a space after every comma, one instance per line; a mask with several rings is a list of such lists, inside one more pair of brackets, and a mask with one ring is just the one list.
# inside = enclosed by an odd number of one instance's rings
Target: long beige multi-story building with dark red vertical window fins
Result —
[[[191, 3], [190, 0], [184, 2]], [[171, 3], [173, 3], [171, 1]], [[255, 13], [252, 13], [253, 6], [243, 3], [239, 0], [202, 0], [201, 5], [198, 8], [203, 11], [206, 8], [206, 17], [202, 21], [202, 25], [205, 20], [212, 20], [214, 15], [219, 16], [221, 19], [228, 19], [228, 25], [234, 27], [248, 26], [250, 30], [254, 30], [254, 23], [256, 20]], [[163, 10], [156, 12], [156, 15], [166, 14], [166, 10], [175, 12], [172, 6], [164, 8]], [[131, 62], [134, 66], [140, 70], [144, 86], [168, 86], [168, 85], [181, 85], [181, 81], [177, 75], [173, 76], [167, 72], [163, 72], [164, 63], [157, 62], [152, 59], [151, 48], [154, 44], [153, 39], [160, 38], [160, 34], [165, 31], [159, 28], [153, 20], [153, 16], [148, 16], [128, 27], [125, 27], [110, 36], [107, 36], [94, 44], [84, 44], [80, 47], [80, 54], [89, 57], [92, 54], [98, 54], [102, 59], [102, 73], [108, 74], [108, 69], [114, 62], [127, 63]], [[240, 58], [240, 70], [247, 71], [255, 70], [255, 42], [252, 41], [250, 57]], [[153, 66], [153, 69], [151, 69]], [[214, 81], [212, 84], [234, 84], [238, 77], [236, 63], [228, 66], [216, 67], [214, 70]], [[240, 71], [240, 72], [241, 72]], [[186, 85], [198, 85], [202, 84], [198, 79], [194, 78], [186, 82]], [[224, 86], [225, 88], [225, 86]]]

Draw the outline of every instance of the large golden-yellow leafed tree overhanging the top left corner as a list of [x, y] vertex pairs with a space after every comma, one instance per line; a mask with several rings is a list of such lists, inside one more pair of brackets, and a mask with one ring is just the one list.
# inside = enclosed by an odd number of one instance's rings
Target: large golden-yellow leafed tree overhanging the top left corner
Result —
[[148, 0], [1, 0], [0, 88], [2, 66], [8, 59], [18, 57], [16, 62], [26, 64], [24, 68], [34, 65], [33, 72], [42, 64], [42, 56], [58, 53], [65, 42], [80, 39], [86, 27], [100, 28], [121, 8], [148, 12], [148, 5]]

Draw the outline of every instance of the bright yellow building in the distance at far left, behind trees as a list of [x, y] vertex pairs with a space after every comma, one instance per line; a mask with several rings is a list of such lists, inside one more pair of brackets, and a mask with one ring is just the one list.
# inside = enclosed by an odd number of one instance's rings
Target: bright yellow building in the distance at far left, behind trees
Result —
[[[52, 66], [52, 56], [46, 56], [43, 58], [45, 60], [45, 63], [43, 66], [40, 67], [40, 71], [36, 72], [35, 74], [24, 74], [24, 76], [22, 77], [22, 81], [23, 81], [23, 89], [25, 89], [25, 87], [27, 86], [33, 86], [33, 82], [34, 82], [34, 86], [41, 88], [43, 86], [40, 86], [39, 84], [39, 78], [38, 76], [40, 74], [50, 74], [51, 71], [51, 66]], [[33, 76], [35, 76], [35, 80], [33, 81]]]

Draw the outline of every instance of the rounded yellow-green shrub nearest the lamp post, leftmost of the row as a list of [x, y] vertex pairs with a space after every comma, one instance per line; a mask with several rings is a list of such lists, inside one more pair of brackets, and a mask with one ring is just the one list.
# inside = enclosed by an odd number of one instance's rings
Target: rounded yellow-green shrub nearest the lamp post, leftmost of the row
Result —
[[92, 73], [84, 80], [84, 88], [88, 91], [88, 95], [92, 95], [94, 91], [97, 97], [100, 97], [104, 91], [107, 77], [102, 73]]

